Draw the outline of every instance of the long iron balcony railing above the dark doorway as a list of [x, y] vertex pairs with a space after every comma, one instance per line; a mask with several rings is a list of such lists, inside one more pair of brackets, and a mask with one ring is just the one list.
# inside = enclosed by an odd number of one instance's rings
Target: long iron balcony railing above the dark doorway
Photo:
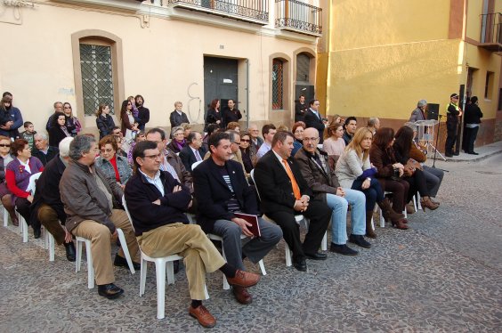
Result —
[[268, 0], [168, 0], [169, 4], [260, 24], [269, 22]]

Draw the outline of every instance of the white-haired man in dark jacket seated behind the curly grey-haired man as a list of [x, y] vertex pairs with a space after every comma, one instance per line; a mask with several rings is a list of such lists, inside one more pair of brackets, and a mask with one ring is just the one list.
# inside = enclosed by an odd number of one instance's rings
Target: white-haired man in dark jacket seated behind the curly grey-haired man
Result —
[[69, 143], [72, 141], [72, 137], [61, 140], [60, 153], [47, 163], [44, 172], [38, 178], [33, 203], [29, 207], [31, 225], [40, 228], [42, 223], [45, 231], [51, 232], [54, 236], [56, 243], [64, 245], [66, 258], [70, 262], [75, 261], [75, 246], [71, 234], [64, 227], [67, 215], [61, 202], [59, 185], [61, 175], [69, 162]]

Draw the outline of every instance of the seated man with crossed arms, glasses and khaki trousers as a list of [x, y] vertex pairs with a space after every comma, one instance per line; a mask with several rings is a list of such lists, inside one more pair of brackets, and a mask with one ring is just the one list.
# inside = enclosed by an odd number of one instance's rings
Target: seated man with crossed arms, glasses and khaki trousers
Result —
[[184, 257], [191, 298], [189, 313], [202, 326], [214, 327], [215, 318], [201, 302], [206, 299], [206, 272], [219, 269], [234, 288], [251, 287], [260, 276], [225, 264], [200, 227], [187, 224], [183, 212], [190, 206], [190, 191], [168, 172], [159, 171], [161, 157], [155, 142], [143, 141], [134, 147], [136, 172], [126, 185], [125, 196], [136, 238], [147, 256]]

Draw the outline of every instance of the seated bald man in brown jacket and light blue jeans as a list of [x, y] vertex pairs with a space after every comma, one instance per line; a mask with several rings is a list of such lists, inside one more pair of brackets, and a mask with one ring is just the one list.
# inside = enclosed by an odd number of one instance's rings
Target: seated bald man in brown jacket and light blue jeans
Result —
[[340, 187], [335, 170], [329, 167], [328, 153], [318, 149], [317, 142], [319, 131], [305, 128], [304, 146], [296, 153], [296, 162], [314, 197], [322, 199], [333, 211], [330, 250], [344, 256], [356, 256], [358, 252], [346, 244], [347, 208], [350, 204], [352, 233], [349, 241], [362, 248], [370, 248], [371, 244], [362, 236], [366, 233], [366, 197], [361, 191]]

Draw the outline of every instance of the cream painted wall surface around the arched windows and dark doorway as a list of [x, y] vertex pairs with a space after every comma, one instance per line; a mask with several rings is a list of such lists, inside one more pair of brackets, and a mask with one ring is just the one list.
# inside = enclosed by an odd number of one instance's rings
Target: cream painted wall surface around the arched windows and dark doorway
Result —
[[[7, 24], [4, 21], [10, 17], [0, 12], [0, 36], [9, 37], [9, 51], [0, 53], [0, 90], [13, 93], [14, 105], [38, 131], [45, 129], [53, 102], [76, 106], [71, 34], [80, 30], [100, 29], [122, 38], [125, 93], [144, 96], [151, 112], [147, 127], [168, 126], [169, 113], [178, 100], [185, 111], [190, 111], [193, 122], [203, 122], [205, 54], [249, 60], [247, 112], [252, 121], [268, 119], [275, 112], [269, 100], [270, 54], [286, 53], [292, 60], [287, 64], [290, 73], [296, 66], [296, 50], [307, 47], [315, 54], [315, 43], [184, 20], [151, 17], [150, 26], [142, 28], [141, 17], [132, 12], [49, 2], [36, 4], [35, 9], [21, 8], [20, 13], [19, 24]], [[239, 82], [241, 87], [245, 84]], [[293, 79], [289, 85], [289, 92], [294, 92]], [[200, 102], [190, 100], [189, 93]], [[287, 105], [294, 106], [294, 96], [285, 98], [290, 100]], [[239, 109], [246, 109], [246, 105], [239, 104]], [[78, 118], [84, 118], [83, 110], [75, 111]], [[94, 117], [84, 120], [86, 126], [95, 127]]]

